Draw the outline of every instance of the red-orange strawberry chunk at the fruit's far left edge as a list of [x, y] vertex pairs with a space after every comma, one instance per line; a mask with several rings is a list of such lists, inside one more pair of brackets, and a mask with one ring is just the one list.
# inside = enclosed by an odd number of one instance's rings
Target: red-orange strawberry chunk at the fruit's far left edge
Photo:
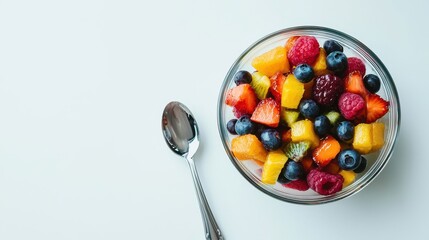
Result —
[[240, 84], [228, 90], [225, 103], [242, 114], [252, 114], [258, 98], [250, 84]]

